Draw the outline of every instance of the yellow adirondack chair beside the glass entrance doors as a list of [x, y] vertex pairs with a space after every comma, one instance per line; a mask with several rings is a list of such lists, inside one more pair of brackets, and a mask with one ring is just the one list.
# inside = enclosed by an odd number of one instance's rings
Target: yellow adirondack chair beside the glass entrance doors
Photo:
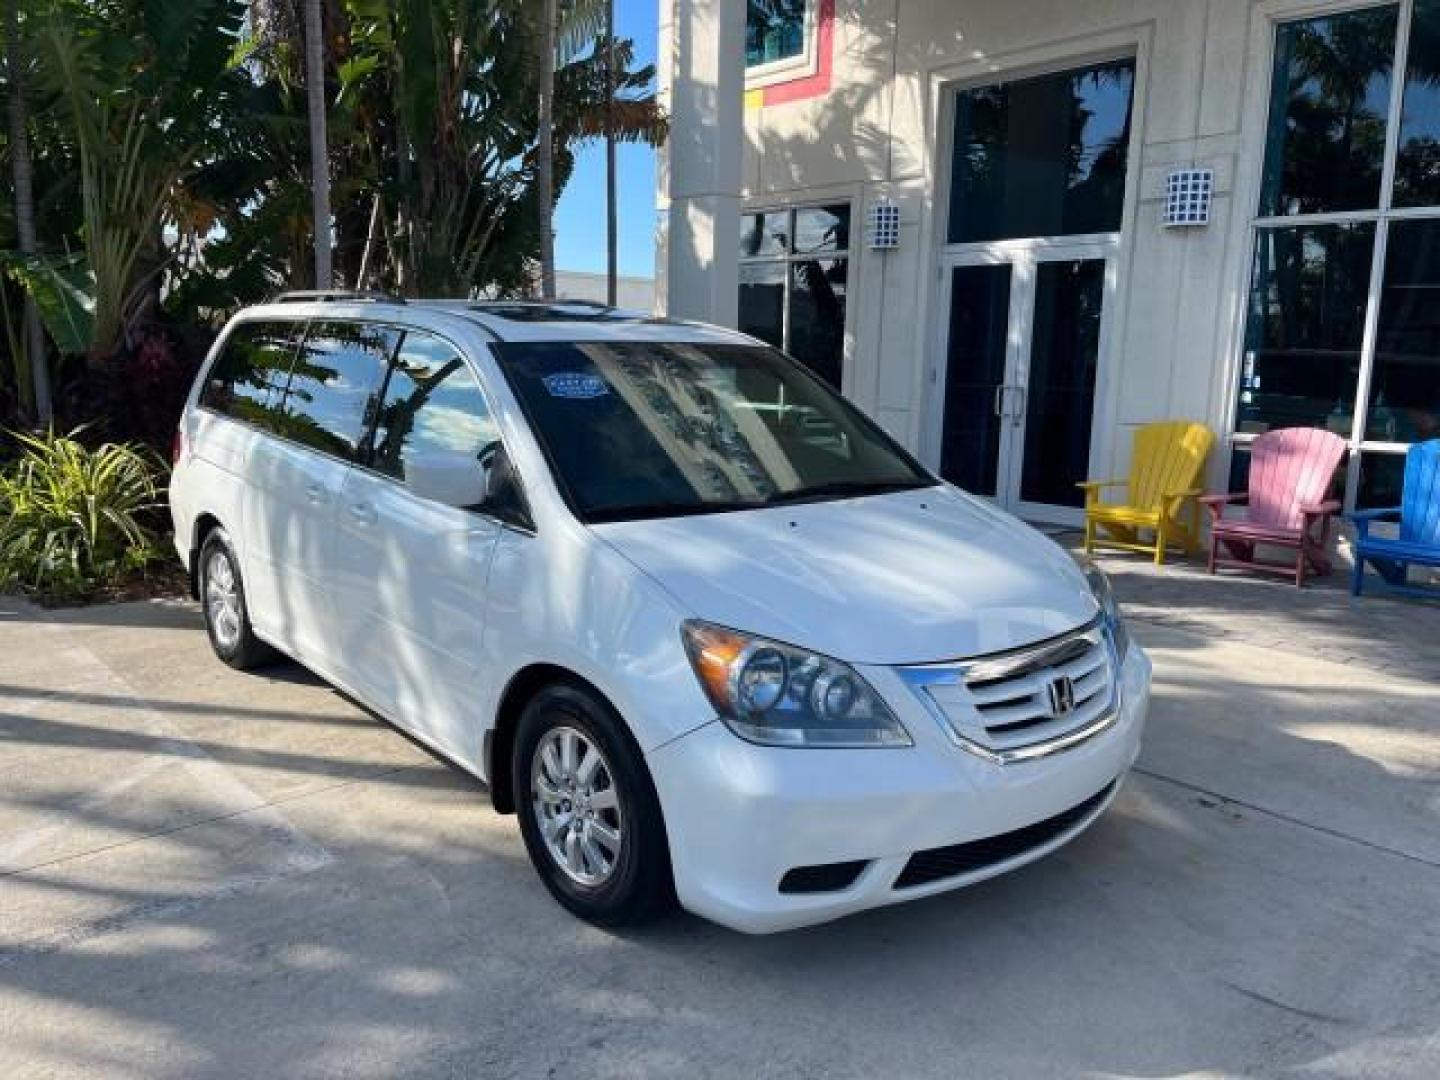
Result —
[[[1084, 550], [1119, 547], [1145, 552], [1164, 566], [1165, 550], [1179, 543], [1200, 549], [1200, 487], [1215, 436], [1204, 423], [1166, 420], [1135, 432], [1129, 480], [1093, 480], [1084, 488]], [[1126, 488], [1123, 503], [1106, 503], [1110, 488]], [[1153, 534], [1145, 543], [1143, 533]]]

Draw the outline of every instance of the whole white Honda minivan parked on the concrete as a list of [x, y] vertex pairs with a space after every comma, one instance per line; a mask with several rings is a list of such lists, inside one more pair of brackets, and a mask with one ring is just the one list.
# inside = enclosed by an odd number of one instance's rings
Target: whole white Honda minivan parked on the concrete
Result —
[[174, 458], [216, 654], [294, 657], [481, 778], [596, 923], [966, 886], [1139, 750], [1104, 577], [742, 334], [288, 294], [226, 327]]

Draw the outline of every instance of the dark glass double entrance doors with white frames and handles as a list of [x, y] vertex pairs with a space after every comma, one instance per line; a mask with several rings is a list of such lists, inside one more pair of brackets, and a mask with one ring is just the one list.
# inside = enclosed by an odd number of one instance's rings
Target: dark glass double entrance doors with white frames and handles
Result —
[[1109, 245], [948, 261], [939, 465], [1032, 520], [1074, 523], [1113, 295]]

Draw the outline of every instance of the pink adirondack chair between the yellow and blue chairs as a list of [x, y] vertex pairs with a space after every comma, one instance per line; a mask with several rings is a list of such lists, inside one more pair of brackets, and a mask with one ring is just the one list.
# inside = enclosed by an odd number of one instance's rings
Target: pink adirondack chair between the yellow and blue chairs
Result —
[[[1308, 570], [1328, 575], [1331, 518], [1341, 510], [1329, 494], [1344, 459], [1345, 439], [1319, 428], [1284, 428], [1256, 439], [1250, 491], [1200, 500], [1210, 510], [1210, 572], [1236, 566], [1295, 575], [1297, 586]], [[1248, 504], [1248, 514], [1227, 517], [1225, 508], [1236, 504]], [[1295, 549], [1295, 563], [1259, 559], [1260, 544]]]

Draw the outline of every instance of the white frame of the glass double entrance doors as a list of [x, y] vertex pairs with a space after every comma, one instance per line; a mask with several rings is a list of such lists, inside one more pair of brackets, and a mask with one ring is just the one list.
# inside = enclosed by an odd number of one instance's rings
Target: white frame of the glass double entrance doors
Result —
[[1030, 405], [1030, 357], [1035, 320], [1035, 276], [1044, 262], [1104, 262], [1104, 300], [1100, 317], [1100, 354], [1096, 364], [1096, 386], [1092, 395], [1090, 461], [1099, 459], [1102, 449], [1102, 403], [1109, 395], [1109, 357], [1119, 287], [1120, 235], [1094, 233], [1087, 236], [1058, 236], [995, 243], [948, 245], [940, 252], [940, 318], [936, 320], [936, 341], [932, 356], [935, 366], [930, 384], [935, 393], [926, 406], [924, 428], [929, 432], [926, 459], [940, 467], [940, 446], [945, 439], [945, 387], [949, 376], [949, 327], [953, 297], [953, 271], [963, 266], [1009, 266], [1009, 320], [1005, 346], [1005, 382], [996, 393], [995, 408], [1002, 413], [999, 462], [995, 477], [995, 501], [1030, 521], [1079, 526], [1084, 511], [1028, 503], [1020, 497], [1025, 455], [1025, 423]]

